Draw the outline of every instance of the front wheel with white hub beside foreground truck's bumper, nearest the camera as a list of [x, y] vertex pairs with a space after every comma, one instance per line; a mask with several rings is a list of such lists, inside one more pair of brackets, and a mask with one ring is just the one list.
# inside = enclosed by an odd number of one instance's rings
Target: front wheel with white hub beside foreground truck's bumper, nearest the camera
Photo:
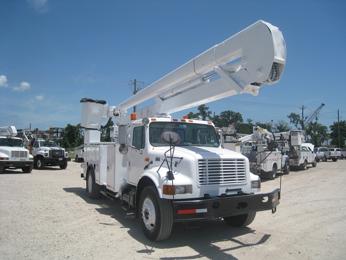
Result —
[[170, 200], [161, 199], [154, 186], [145, 187], [139, 200], [140, 224], [151, 241], [167, 239], [173, 227], [173, 209]]

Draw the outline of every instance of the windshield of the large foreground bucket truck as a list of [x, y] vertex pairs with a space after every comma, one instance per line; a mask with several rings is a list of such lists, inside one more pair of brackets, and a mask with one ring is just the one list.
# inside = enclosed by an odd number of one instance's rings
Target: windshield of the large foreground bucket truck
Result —
[[181, 122], [152, 122], [149, 125], [149, 142], [152, 146], [169, 146], [161, 136], [172, 131], [179, 135], [180, 142], [176, 146], [218, 147], [216, 130], [212, 125]]

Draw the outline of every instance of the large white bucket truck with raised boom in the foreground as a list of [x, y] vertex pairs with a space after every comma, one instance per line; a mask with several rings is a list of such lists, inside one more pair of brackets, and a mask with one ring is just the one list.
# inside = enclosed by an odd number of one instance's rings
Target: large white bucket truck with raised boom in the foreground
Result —
[[[258, 211], [274, 213], [280, 190], [258, 194], [260, 178], [249, 160], [221, 148], [212, 122], [171, 114], [236, 94], [256, 96], [261, 86], [280, 80], [285, 63], [281, 32], [259, 21], [117, 106], [81, 100], [87, 129], [81, 177], [88, 196], [120, 199], [152, 241], [167, 239], [173, 222], [223, 218], [240, 227]], [[152, 98], [155, 104], [126, 116]], [[117, 142], [100, 142], [107, 117], [116, 119]]]

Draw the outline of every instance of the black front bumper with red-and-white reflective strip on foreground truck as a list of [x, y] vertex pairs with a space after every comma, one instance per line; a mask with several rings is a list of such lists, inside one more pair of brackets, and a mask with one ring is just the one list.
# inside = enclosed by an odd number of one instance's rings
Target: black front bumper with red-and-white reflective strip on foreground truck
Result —
[[174, 222], [200, 221], [272, 209], [275, 211], [280, 190], [262, 194], [208, 197], [194, 201], [174, 201]]

